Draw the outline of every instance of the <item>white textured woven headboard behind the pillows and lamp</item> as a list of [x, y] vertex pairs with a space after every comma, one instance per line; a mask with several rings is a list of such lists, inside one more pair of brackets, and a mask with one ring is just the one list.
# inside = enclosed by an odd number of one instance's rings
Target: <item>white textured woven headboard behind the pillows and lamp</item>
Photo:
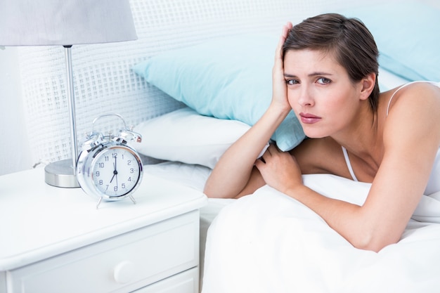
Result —
[[[182, 107], [131, 71], [149, 56], [225, 35], [278, 34], [286, 21], [356, 5], [351, 0], [131, 0], [138, 40], [72, 47], [78, 139], [105, 113], [117, 112], [136, 125]], [[70, 132], [63, 48], [20, 48], [19, 60], [32, 159], [65, 159]], [[96, 129], [120, 127], [117, 120], [104, 123]]]

